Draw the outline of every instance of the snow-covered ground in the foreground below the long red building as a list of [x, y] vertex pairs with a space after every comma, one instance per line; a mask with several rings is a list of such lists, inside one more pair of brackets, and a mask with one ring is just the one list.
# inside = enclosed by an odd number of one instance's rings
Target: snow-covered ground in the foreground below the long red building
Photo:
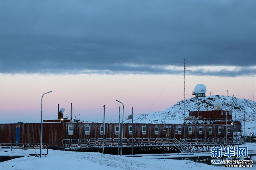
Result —
[[[248, 150], [256, 150], [256, 143], [247, 143]], [[0, 149], [1, 153], [6, 149]], [[11, 150], [7, 150], [11, 152]], [[13, 150], [14, 153], [22, 150]], [[43, 150], [43, 152], [46, 152]], [[34, 153], [34, 150], [24, 150]], [[37, 151], [38, 153], [38, 151]], [[255, 161], [256, 157], [253, 157]], [[256, 166], [256, 164], [254, 164]], [[0, 163], [0, 169], [229, 169], [222, 166], [195, 163], [189, 160], [146, 159], [145, 157], [124, 157], [95, 152], [72, 152], [49, 150], [42, 158], [29, 156], [11, 159]], [[235, 168], [244, 169], [244, 168]], [[253, 169], [253, 168], [247, 168]]]

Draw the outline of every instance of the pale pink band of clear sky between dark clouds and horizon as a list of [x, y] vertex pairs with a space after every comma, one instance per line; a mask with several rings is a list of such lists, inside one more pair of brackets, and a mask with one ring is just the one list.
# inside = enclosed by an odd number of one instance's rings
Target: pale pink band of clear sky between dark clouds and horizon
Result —
[[[146, 114], [172, 75], [140, 74], [0, 74], [0, 123], [40, 122], [41, 96], [43, 98], [43, 119], [57, 119], [57, 106], [65, 108], [70, 117], [70, 103], [73, 118], [81, 121], [103, 121], [103, 105], [106, 105], [105, 120], [118, 119], [116, 100], [124, 103], [124, 115]], [[198, 83], [206, 85], [206, 95], [213, 86], [214, 95], [235, 95], [251, 99], [255, 92], [255, 77], [186, 76], [186, 94], [191, 96]], [[190, 98], [186, 96], [186, 98]], [[255, 96], [256, 98], [256, 96]], [[183, 76], [174, 75], [148, 113], [165, 110], [183, 99]], [[75, 116], [74, 116], [75, 115]], [[127, 116], [126, 116], [127, 117]], [[88, 120], [89, 119], [89, 120]], [[89, 121], [90, 122], [90, 121]]]

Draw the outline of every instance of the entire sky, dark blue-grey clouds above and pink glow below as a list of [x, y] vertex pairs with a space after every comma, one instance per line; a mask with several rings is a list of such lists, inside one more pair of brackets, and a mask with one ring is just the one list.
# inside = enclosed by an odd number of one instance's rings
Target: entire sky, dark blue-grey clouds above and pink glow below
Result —
[[[0, 1], [0, 123], [162, 111], [198, 83], [256, 98], [255, 1]], [[80, 115], [79, 115], [80, 114]]]

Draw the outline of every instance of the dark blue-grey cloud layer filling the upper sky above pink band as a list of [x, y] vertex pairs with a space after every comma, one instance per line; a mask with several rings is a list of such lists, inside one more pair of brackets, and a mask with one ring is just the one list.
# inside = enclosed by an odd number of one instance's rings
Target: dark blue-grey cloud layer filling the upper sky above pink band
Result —
[[255, 1], [1, 1], [0, 17], [2, 73], [172, 74], [184, 55], [242, 67], [191, 74], [256, 71]]

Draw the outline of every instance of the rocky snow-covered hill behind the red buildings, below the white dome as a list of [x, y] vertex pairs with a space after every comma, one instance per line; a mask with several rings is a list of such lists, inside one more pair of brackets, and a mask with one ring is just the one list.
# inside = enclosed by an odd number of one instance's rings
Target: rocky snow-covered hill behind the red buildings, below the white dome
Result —
[[[233, 120], [236, 118], [238, 121], [242, 121], [244, 114], [246, 121], [251, 126], [254, 126], [256, 122], [256, 102], [249, 99], [227, 97], [227, 96], [206, 96], [198, 98], [188, 98], [185, 100], [185, 114], [186, 117], [190, 111], [196, 111], [200, 106], [200, 110], [213, 110], [214, 101], [220, 100], [222, 102], [222, 110], [232, 110]], [[131, 119], [125, 119], [125, 123], [130, 123]], [[183, 123], [184, 122], [184, 100], [181, 100], [173, 106], [163, 110], [161, 112], [155, 112], [151, 114], [141, 114], [134, 116], [134, 123]]]

